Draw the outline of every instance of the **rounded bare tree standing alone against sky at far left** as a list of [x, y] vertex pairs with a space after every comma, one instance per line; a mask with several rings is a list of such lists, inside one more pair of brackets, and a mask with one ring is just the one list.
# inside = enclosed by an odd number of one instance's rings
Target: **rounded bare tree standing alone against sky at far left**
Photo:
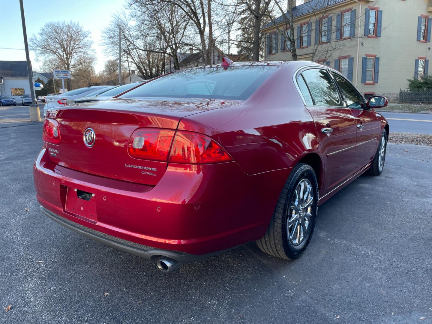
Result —
[[[29, 49], [35, 51], [36, 59], [57, 60], [66, 70], [73, 70], [83, 64], [83, 57], [92, 53], [93, 42], [90, 32], [83, 30], [77, 22], [47, 22], [29, 40]], [[68, 89], [72, 89], [70, 79]]]

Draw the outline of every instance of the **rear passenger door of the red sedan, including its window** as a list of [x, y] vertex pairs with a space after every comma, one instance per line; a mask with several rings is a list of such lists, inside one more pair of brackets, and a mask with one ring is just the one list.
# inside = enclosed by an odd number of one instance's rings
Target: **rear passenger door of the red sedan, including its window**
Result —
[[324, 159], [325, 195], [353, 174], [356, 118], [343, 106], [333, 77], [326, 69], [307, 69], [297, 76], [306, 108], [314, 119]]

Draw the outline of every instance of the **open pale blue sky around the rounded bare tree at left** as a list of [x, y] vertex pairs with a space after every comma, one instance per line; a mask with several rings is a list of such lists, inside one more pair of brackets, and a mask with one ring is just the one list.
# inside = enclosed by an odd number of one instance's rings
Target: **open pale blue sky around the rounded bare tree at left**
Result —
[[[37, 34], [48, 21], [76, 21], [91, 32], [98, 62], [95, 70], [103, 69], [105, 57], [101, 42], [101, 31], [111, 20], [111, 15], [123, 9], [124, 0], [24, 0], [25, 25], [27, 36]], [[19, 0], [0, 0], [2, 31], [0, 32], [0, 60], [25, 60], [25, 51], [6, 50], [7, 48], [24, 48], [22, 37], [21, 14]], [[33, 70], [38, 70], [42, 62], [35, 60], [30, 51]]]

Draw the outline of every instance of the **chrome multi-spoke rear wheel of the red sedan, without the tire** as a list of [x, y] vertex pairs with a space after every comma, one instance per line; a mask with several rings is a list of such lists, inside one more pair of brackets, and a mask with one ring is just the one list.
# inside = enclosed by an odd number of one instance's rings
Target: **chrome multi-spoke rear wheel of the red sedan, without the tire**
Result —
[[300, 245], [305, 241], [311, 230], [312, 210], [314, 205], [314, 189], [311, 181], [300, 180], [292, 195], [287, 215], [287, 236], [292, 245]]

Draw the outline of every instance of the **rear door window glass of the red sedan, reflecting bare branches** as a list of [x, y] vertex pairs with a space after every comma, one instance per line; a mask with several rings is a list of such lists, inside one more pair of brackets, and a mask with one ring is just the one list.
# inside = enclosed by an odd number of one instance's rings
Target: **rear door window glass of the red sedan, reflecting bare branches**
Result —
[[336, 85], [325, 70], [306, 70], [302, 72], [308, 83], [317, 106], [340, 106], [340, 96]]

